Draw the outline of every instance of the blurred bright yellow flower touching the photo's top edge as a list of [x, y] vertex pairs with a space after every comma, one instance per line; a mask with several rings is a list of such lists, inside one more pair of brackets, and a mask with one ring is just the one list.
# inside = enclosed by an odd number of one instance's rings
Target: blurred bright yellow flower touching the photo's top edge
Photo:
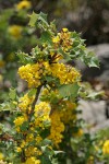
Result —
[[16, 9], [17, 10], [22, 10], [22, 9], [31, 9], [32, 8], [32, 3], [27, 0], [23, 0], [20, 3], [16, 4]]

